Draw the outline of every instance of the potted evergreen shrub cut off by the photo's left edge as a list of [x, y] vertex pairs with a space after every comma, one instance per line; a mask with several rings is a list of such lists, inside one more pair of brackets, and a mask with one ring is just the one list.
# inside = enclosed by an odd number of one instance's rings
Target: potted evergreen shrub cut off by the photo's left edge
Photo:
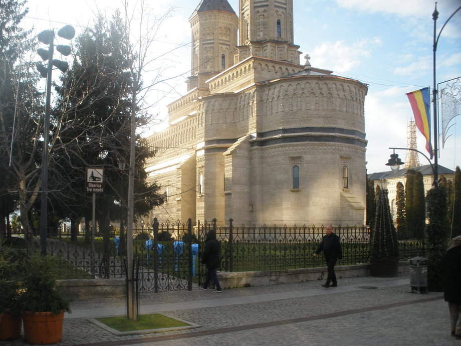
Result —
[[16, 304], [19, 295], [17, 254], [0, 244], [0, 340], [21, 336], [21, 313]]

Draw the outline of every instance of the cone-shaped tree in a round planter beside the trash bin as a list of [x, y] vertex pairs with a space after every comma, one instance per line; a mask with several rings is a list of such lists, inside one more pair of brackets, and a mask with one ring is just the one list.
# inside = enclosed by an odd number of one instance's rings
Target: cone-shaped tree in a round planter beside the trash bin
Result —
[[376, 219], [371, 238], [371, 276], [396, 277], [398, 261], [397, 232], [390, 214], [387, 190], [382, 189], [378, 195]]

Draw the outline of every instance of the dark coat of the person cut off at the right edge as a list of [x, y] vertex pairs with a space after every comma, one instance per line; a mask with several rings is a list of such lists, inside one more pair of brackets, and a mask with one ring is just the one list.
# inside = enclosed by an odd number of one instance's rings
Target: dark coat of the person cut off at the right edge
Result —
[[442, 257], [445, 301], [461, 304], [461, 246], [449, 249]]

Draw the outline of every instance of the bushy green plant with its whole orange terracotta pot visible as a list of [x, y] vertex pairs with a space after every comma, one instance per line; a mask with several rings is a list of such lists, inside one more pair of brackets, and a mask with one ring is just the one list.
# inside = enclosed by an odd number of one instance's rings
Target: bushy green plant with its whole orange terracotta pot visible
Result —
[[18, 302], [29, 343], [55, 343], [62, 338], [64, 312], [70, 312], [70, 304], [56, 288], [54, 262], [50, 255], [33, 255], [24, 263]]

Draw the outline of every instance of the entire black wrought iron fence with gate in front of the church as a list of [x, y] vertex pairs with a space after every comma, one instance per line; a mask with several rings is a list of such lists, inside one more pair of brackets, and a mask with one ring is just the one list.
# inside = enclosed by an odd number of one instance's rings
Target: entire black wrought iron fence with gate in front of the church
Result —
[[[139, 223], [133, 228], [135, 267], [140, 274], [141, 291], [188, 289], [190, 278], [202, 282], [205, 270], [200, 265], [201, 252], [206, 233], [211, 229], [215, 229], [221, 242], [221, 271], [270, 271], [325, 265], [322, 256], [313, 256], [325, 234], [323, 225], [235, 226], [231, 219], [225, 227], [216, 226], [216, 220], [198, 222], [192, 232], [190, 222], [158, 223], [155, 219], [152, 225]], [[369, 263], [369, 228], [338, 226], [333, 232], [341, 239], [341, 264]], [[119, 233], [114, 236], [110, 240], [106, 238], [108, 244], [103, 244], [102, 237], [96, 237], [98, 246], [94, 252], [81, 238], [77, 242], [49, 239], [48, 252], [59, 255], [62, 260], [62, 277], [124, 278], [126, 257], [120, 256], [123, 241], [120, 241]], [[183, 242], [182, 250], [177, 247], [178, 241]], [[192, 244], [196, 244], [193, 249]], [[424, 243], [422, 240], [399, 240], [399, 252], [401, 259], [424, 256]], [[195, 278], [197, 275], [199, 279]]]

